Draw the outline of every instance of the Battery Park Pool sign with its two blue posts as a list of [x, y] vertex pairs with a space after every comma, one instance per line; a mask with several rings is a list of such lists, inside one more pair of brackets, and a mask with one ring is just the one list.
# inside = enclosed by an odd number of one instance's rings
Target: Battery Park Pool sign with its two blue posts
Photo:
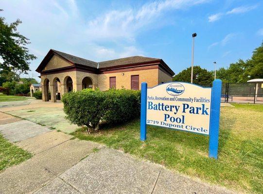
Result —
[[186, 82], [168, 82], [147, 88], [141, 83], [140, 140], [146, 125], [209, 135], [209, 157], [217, 159], [221, 80], [212, 88]]

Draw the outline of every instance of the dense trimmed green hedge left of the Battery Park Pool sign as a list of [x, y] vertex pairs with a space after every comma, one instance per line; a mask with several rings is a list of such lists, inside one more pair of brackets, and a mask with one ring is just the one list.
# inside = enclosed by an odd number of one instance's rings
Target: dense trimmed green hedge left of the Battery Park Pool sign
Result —
[[62, 97], [66, 118], [72, 124], [99, 129], [100, 122], [123, 123], [140, 114], [140, 91], [84, 89]]

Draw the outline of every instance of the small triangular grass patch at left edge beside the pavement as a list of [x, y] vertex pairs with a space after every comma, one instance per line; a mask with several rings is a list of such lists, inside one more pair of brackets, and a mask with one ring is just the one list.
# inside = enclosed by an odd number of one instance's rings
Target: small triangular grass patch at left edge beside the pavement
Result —
[[0, 172], [9, 166], [21, 163], [31, 157], [31, 153], [8, 142], [0, 134]]

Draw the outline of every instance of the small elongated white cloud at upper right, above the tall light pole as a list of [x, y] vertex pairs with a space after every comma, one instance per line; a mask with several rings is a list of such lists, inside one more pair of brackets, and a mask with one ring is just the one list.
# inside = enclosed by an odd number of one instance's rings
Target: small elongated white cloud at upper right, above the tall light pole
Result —
[[225, 15], [242, 14], [242, 13], [245, 13], [245, 12], [249, 12], [249, 11], [251, 11], [253, 9], [256, 9], [257, 7], [258, 7], [258, 5], [236, 7], [236, 8], [233, 8], [232, 10], [230, 10], [230, 11], [228, 11], [226, 13], [218, 13], [218, 14], [210, 15], [210, 16], [208, 16], [208, 21], [209, 22], [217, 21], [217, 20], [221, 19]]

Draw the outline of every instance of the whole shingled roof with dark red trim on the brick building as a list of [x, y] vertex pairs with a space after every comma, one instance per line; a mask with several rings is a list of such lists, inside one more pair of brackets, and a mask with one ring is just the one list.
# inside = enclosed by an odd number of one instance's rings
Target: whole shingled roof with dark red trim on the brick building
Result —
[[36, 71], [40, 73], [44, 69], [45, 65], [49, 62], [49, 60], [53, 57], [54, 54], [60, 56], [61, 58], [68, 61], [72, 65], [84, 66], [84, 67], [86, 66], [85, 68], [94, 69], [94, 70], [95, 69], [102, 70], [101, 68], [103, 69], [115, 68], [116, 66], [119, 66], [118, 68], [125, 68], [128, 65], [137, 65], [137, 64], [143, 65], [143, 64], [158, 63], [158, 64], [162, 64], [165, 71], [169, 72], [169, 74], [171, 74], [172, 76], [175, 75], [173, 70], [168, 65], [166, 65], [162, 59], [158, 59], [158, 58], [132, 56], [132, 57], [125, 57], [121, 59], [103, 61], [103, 62], [94, 62], [54, 49], [50, 49], [50, 51], [45, 56], [43, 61], [37, 67]]

